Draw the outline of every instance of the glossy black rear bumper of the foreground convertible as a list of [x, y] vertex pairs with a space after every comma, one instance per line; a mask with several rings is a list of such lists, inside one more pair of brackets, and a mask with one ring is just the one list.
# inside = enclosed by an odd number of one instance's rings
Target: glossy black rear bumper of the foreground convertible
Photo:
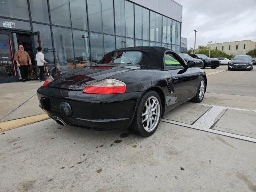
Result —
[[98, 95], [84, 94], [82, 91], [41, 88], [38, 89], [37, 95], [39, 106], [50, 118], [60, 118], [69, 126], [127, 129], [133, 120], [142, 92]]

